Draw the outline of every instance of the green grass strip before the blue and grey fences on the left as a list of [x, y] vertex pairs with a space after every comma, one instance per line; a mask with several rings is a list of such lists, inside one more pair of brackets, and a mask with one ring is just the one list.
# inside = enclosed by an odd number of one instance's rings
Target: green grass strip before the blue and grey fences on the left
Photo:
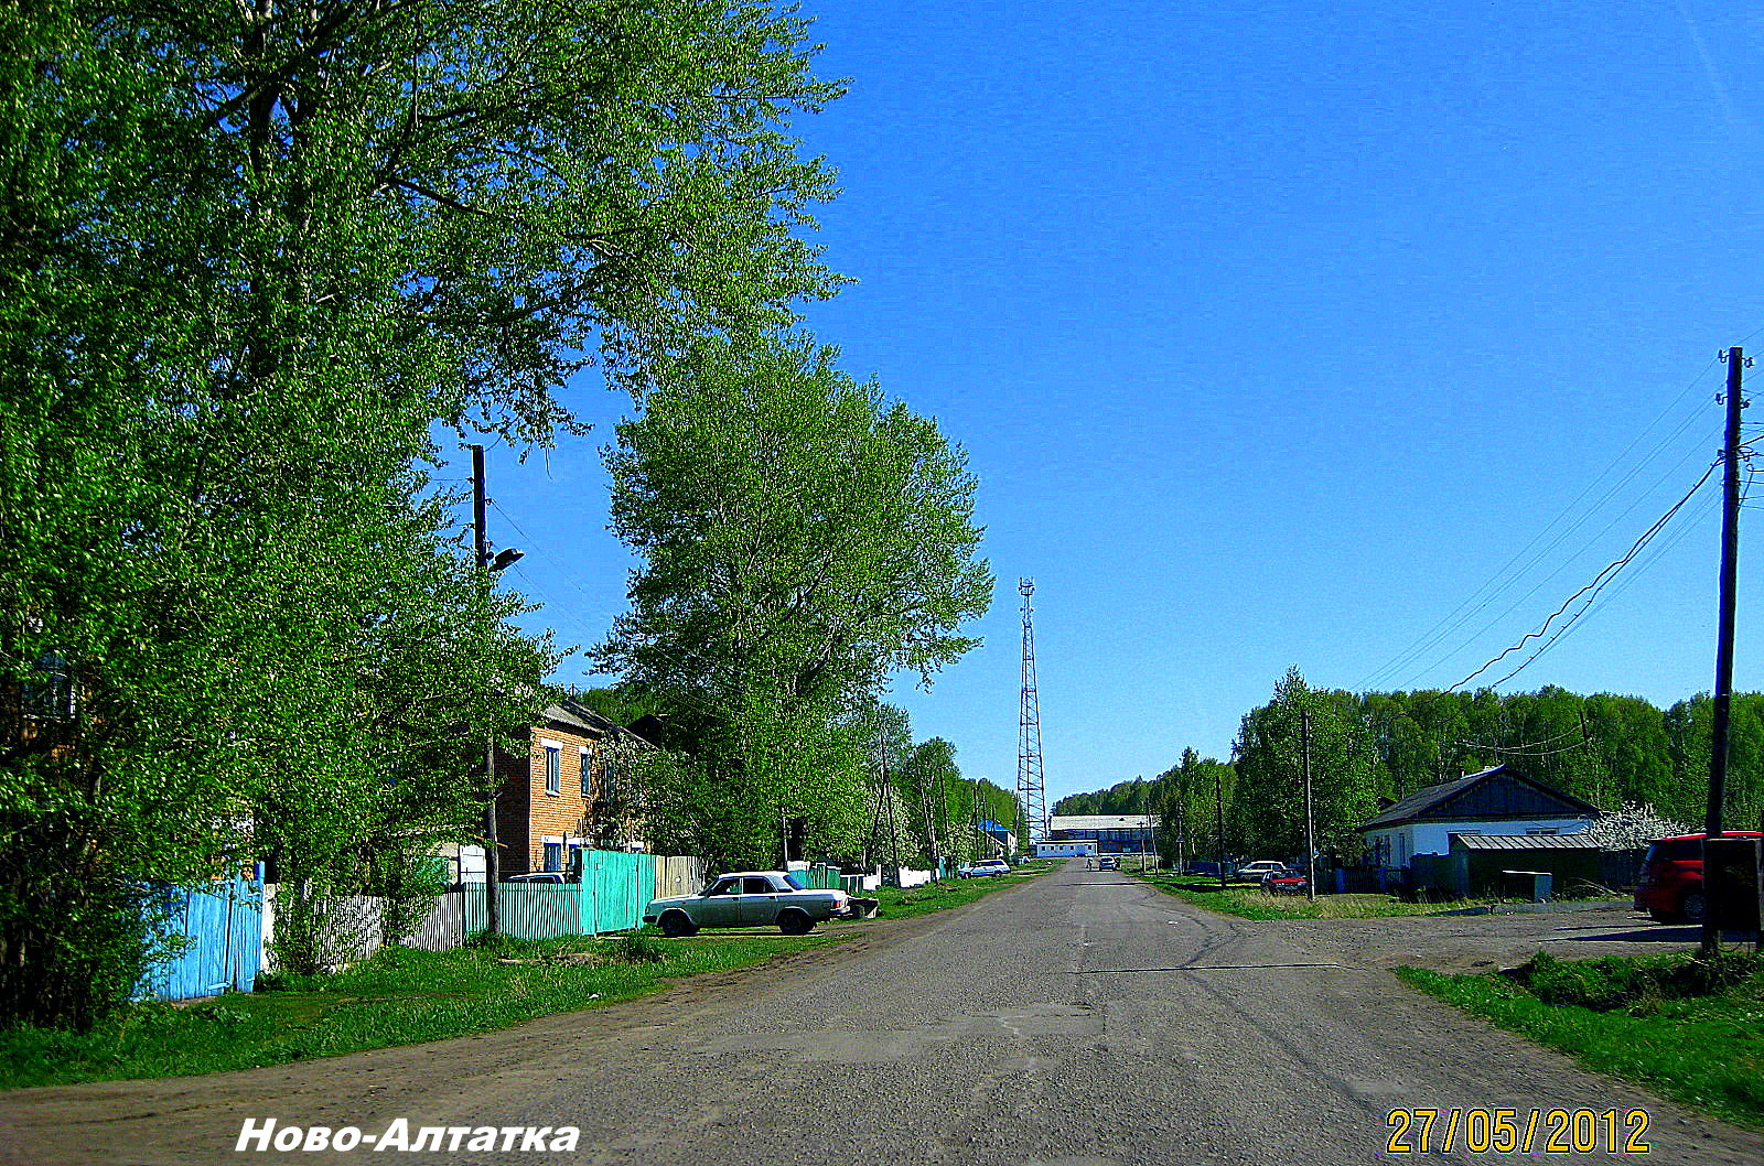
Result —
[[827, 942], [836, 940], [564, 937], [445, 953], [386, 947], [346, 972], [289, 977], [270, 991], [189, 1007], [145, 1002], [90, 1034], [0, 1032], [0, 1088], [249, 1069], [492, 1032]]

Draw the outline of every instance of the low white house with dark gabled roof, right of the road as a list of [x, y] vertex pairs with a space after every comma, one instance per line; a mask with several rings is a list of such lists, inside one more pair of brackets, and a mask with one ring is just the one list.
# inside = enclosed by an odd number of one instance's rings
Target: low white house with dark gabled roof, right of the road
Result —
[[1358, 829], [1378, 866], [1401, 868], [1448, 854], [1452, 834], [1573, 834], [1596, 817], [1598, 806], [1496, 766], [1418, 789]]

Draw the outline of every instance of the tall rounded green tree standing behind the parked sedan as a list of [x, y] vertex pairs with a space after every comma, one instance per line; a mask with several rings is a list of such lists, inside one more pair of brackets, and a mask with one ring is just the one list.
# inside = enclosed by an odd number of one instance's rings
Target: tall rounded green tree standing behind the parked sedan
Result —
[[822, 843], [843, 850], [840, 824], [868, 806], [831, 774], [868, 744], [838, 727], [896, 670], [930, 684], [990, 602], [961, 450], [833, 356], [700, 344], [607, 452], [614, 529], [644, 566], [596, 656], [674, 704], [706, 767], [702, 847], [725, 845], [720, 815], [744, 799], [826, 813]]

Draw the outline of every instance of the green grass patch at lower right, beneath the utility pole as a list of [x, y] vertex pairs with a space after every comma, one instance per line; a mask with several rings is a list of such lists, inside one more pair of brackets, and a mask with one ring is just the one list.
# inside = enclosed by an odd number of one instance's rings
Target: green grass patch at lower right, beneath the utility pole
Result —
[[1764, 963], [1729, 956], [1538, 954], [1508, 974], [1397, 972], [1406, 983], [1720, 1118], [1764, 1129]]

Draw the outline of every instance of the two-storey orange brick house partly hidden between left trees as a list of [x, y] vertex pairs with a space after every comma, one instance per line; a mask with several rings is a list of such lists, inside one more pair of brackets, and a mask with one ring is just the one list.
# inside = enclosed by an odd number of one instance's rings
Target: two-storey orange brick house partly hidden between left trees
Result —
[[496, 840], [503, 878], [568, 871], [579, 850], [646, 850], [621, 757], [646, 741], [575, 700], [545, 709], [526, 757], [497, 753]]

